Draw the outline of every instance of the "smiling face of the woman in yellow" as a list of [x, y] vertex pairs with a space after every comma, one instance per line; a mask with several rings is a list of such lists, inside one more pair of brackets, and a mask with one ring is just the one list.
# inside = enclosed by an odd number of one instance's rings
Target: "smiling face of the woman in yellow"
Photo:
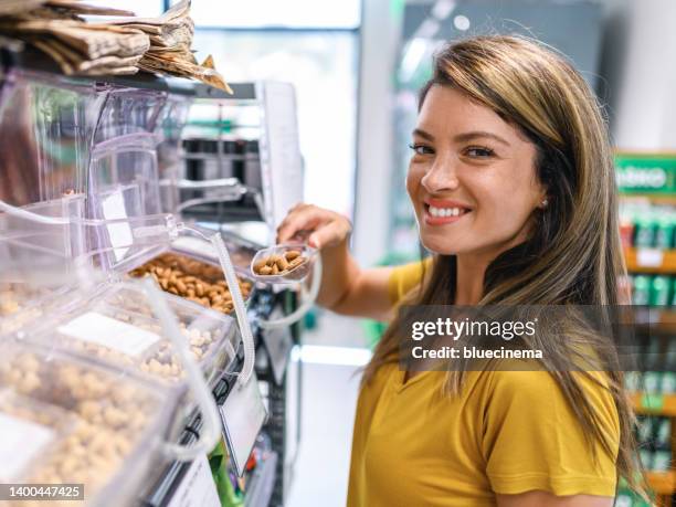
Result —
[[546, 192], [536, 147], [488, 107], [447, 86], [427, 92], [406, 189], [426, 249], [497, 256], [528, 237]]

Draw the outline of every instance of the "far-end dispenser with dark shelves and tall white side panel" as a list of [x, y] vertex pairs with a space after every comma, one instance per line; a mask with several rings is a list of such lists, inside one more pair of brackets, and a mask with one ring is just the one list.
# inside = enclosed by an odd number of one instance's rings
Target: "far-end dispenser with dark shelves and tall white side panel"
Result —
[[[202, 222], [262, 222], [261, 243], [303, 200], [296, 99], [276, 82], [233, 86], [234, 96], [196, 84], [182, 131], [184, 165], [177, 175], [177, 207]], [[255, 232], [254, 232], [255, 234]]]

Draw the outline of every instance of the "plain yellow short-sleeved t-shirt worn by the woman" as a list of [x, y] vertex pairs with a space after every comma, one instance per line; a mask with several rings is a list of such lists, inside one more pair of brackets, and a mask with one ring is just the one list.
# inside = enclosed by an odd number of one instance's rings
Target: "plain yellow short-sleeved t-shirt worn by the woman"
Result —
[[[394, 302], [421, 274], [420, 264], [394, 270]], [[535, 489], [614, 496], [615, 460], [600, 444], [594, 460], [548, 372], [468, 372], [458, 397], [441, 393], [444, 372], [406, 383], [403, 374], [398, 365], [383, 366], [359, 394], [349, 507], [494, 506], [496, 493]], [[591, 382], [583, 387], [619, 442], [611, 394]]]

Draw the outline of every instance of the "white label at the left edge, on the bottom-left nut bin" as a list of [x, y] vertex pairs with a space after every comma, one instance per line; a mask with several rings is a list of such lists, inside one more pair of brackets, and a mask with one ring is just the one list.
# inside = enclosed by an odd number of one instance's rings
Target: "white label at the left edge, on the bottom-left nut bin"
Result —
[[[54, 430], [0, 413], [0, 482], [13, 482], [55, 436]], [[39, 461], [39, 460], [38, 460]]]

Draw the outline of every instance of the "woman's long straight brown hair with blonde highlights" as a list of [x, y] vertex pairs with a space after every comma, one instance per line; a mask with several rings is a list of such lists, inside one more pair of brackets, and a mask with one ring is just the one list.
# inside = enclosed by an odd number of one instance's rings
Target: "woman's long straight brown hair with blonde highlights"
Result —
[[[536, 146], [537, 177], [547, 189], [549, 204], [534, 213], [529, 239], [489, 264], [479, 305], [616, 305], [617, 284], [626, 271], [612, 150], [602, 108], [584, 78], [564, 57], [538, 42], [478, 36], [448, 44], [436, 54], [433, 76], [420, 94], [421, 105], [432, 86], [453, 87], [522, 130]], [[452, 305], [455, 284], [455, 256], [435, 255], [420, 289], [409, 294], [406, 302]], [[400, 318], [392, 321], [365, 370], [363, 382], [382, 365], [397, 361], [395, 337], [405, 334], [402, 326]], [[549, 363], [545, 359], [545, 368], [572, 406], [592, 452], [596, 441], [615, 460], [616, 440], [603, 431], [580, 376], [573, 374], [572, 349], [567, 348], [572, 346], [551, 336], [539, 339], [545, 357], [556, 358]], [[608, 371], [606, 377], [608, 382], [592, 380], [609, 389], [617, 408], [617, 475], [642, 492], [635, 479], [634, 415], [623, 376]], [[447, 373], [451, 394], [460, 392], [464, 378], [462, 370]]]

